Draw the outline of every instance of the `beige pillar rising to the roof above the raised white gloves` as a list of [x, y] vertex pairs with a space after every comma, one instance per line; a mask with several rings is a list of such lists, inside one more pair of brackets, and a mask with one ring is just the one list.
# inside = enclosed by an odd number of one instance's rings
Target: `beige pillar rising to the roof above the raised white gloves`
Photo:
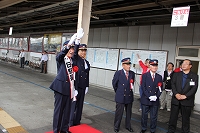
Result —
[[84, 36], [81, 39], [82, 44], [88, 44], [90, 17], [92, 0], [79, 0], [78, 25], [77, 28], [83, 28]]

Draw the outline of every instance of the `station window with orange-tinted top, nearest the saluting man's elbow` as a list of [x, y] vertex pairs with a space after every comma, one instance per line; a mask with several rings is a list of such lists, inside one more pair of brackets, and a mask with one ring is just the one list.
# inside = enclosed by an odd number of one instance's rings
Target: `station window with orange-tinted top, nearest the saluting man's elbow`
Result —
[[61, 46], [62, 34], [45, 34], [44, 35], [44, 50], [47, 52], [56, 52]]

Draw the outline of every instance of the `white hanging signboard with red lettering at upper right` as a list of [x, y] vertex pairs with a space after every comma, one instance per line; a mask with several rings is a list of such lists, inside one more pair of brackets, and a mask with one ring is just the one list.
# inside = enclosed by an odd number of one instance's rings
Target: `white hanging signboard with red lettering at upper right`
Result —
[[171, 27], [184, 27], [188, 24], [190, 6], [173, 8]]

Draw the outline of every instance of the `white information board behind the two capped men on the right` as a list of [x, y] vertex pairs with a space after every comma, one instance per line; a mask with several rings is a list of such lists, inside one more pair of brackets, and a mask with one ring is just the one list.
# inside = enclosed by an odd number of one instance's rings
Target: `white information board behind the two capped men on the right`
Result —
[[[144, 62], [148, 59], [157, 59], [158, 60], [158, 71], [157, 73], [163, 75], [163, 72], [166, 68], [167, 63], [167, 51], [148, 51], [148, 50], [129, 50], [129, 49], [120, 49], [119, 61], [121, 59], [129, 57], [131, 58], [131, 70], [137, 74], [142, 74], [142, 69], [139, 65], [137, 54], [140, 56]], [[118, 64], [118, 69], [122, 69], [121, 63]]]

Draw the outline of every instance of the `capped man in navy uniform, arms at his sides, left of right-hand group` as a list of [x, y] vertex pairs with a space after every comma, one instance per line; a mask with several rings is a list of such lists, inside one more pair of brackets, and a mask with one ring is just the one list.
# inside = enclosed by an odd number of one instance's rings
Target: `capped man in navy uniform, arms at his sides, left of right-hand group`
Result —
[[119, 132], [124, 108], [126, 110], [125, 126], [129, 132], [133, 132], [131, 128], [131, 114], [133, 97], [133, 83], [135, 79], [135, 73], [130, 70], [130, 58], [124, 58], [121, 60], [123, 69], [116, 71], [112, 80], [112, 85], [115, 91], [115, 120], [114, 131]]

